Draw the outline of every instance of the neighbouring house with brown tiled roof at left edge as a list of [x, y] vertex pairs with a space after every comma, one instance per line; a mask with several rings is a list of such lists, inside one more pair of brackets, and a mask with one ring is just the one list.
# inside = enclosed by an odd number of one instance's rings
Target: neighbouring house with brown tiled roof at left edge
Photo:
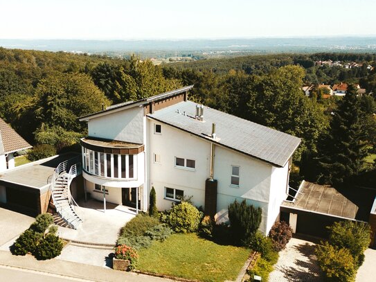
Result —
[[14, 153], [31, 148], [15, 130], [0, 118], [0, 172], [15, 167]]

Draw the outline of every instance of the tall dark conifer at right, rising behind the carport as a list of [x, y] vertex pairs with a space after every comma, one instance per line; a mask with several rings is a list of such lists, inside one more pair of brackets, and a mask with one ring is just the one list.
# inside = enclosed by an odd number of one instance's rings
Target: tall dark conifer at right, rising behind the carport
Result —
[[348, 93], [334, 109], [330, 131], [325, 134], [319, 148], [324, 182], [342, 184], [361, 170], [367, 146], [363, 116], [357, 89], [350, 85]]

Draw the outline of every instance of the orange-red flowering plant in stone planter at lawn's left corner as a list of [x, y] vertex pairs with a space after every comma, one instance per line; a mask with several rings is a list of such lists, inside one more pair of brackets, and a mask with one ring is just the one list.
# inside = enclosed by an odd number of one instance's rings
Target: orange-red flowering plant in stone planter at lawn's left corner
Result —
[[112, 268], [114, 270], [130, 271], [136, 268], [138, 263], [138, 254], [136, 249], [127, 245], [118, 245], [115, 248], [115, 256], [112, 259]]

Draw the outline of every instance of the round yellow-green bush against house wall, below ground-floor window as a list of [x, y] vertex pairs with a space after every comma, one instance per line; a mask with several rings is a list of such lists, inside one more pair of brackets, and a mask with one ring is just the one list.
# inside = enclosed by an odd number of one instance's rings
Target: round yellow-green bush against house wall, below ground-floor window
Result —
[[188, 202], [175, 204], [170, 209], [170, 213], [163, 215], [166, 223], [170, 225], [173, 231], [189, 233], [195, 232], [199, 228], [201, 213]]

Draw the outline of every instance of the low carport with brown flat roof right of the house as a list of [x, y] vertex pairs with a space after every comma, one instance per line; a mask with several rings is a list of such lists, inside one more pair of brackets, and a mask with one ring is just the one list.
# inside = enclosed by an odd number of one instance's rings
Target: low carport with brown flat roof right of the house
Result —
[[376, 191], [368, 188], [336, 189], [303, 182], [290, 201], [280, 206], [280, 220], [295, 233], [326, 238], [325, 227], [339, 220], [368, 222]]

